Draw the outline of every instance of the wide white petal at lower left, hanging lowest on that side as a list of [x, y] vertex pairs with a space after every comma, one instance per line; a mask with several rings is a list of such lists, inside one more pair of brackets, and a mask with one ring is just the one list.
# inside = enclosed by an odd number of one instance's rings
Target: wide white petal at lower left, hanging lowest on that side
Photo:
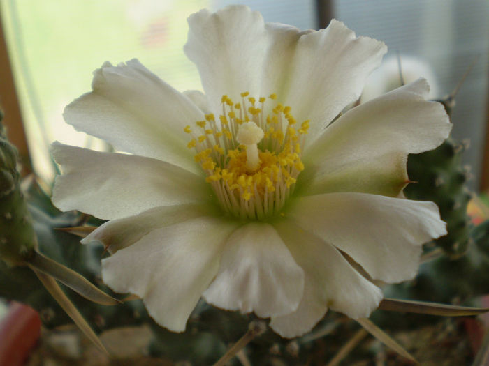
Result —
[[156, 229], [103, 259], [103, 282], [140, 296], [157, 323], [182, 332], [216, 275], [219, 252], [235, 226], [204, 217]]

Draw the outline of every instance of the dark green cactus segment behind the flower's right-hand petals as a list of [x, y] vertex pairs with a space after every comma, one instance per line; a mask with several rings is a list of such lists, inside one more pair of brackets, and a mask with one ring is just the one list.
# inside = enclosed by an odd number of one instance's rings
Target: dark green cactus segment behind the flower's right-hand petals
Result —
[[467, 204], [471, 195], [465, 185], [469, 174], [462, 167], [463, 151], [463, 144], [447, 139], [435, 150], [409, 155], [407, 172], [416, 183], [404, 188], [407, 198], [434, 201], [438, 205], [448, 234], [435, 243], [452, 258], [465, 253], [469, 244]]

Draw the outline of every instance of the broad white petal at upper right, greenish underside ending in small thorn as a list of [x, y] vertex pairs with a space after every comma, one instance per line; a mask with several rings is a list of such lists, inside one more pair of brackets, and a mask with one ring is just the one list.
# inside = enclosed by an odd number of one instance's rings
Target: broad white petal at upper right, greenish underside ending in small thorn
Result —
[[428, 91], [419, 79], [341, 116], [305, 151], [302, 192], [397, 196], [407, 154], [436, 148], [451, 130], [444, 107], [424, 100]]

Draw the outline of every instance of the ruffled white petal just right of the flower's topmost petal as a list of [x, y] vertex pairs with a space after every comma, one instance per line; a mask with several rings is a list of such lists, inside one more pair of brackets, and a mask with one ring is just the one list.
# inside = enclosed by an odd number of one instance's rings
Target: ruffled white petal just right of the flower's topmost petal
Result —
[[387, 52], [384, 43], [356, 37], [342, 22], [301, 36], [291, 63], [286, 105], [298, 122], [310, 120], [308, 143], [346, 105], [360, 97], [365, 80]]

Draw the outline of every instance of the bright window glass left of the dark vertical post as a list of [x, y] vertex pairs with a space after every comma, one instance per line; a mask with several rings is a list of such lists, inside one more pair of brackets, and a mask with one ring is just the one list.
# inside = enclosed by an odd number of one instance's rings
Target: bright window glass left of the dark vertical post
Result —
[[[139, 59], [177, 90], [201, 89], [194, 65], [183, 53], [187, 17], [200, 8], [216, 10], [224, 0], [43, 0], [1, 1], [31, 156], [50, 180], [48, 146], [103, 148], [75, 132], [62, 118], [64, 107], [90, 90], [92, 71], [104, 61]], [[242, 1], [241, 1], [242, 2]], [[303, 29], [315, 26], [314, 1], [245, 1], [267, 22]]]

